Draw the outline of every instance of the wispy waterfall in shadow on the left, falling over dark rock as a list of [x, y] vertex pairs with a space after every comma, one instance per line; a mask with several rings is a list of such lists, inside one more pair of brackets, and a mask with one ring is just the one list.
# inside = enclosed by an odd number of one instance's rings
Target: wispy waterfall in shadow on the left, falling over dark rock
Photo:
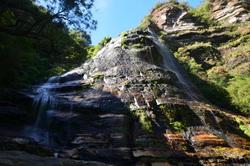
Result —
[[54, 146], [53, 134], [50, 128], [58, 105], [58, 101], [53, 95], [54, 89], [59, 84], [59, 79], [59, 76], [51, 77], [45, 84], [41, 85], [36, 90], [37, 95], [33, 101], [32, 110], [37, 119], [31, 137], [47, 147]]

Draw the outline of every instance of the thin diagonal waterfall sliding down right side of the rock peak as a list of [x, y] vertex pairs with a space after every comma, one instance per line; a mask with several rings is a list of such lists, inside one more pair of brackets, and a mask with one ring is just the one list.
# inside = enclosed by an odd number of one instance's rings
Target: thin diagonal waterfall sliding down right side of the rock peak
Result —
[[151, 34], [151, 39], [155, 43], [158, 52], [162, 56], [164, 68], [175, 73], [184, 91], [192, 100], [200, 101], [203, 97], [200, 95], [198, 90], [195, 88], [188, 75], [183, 72], [183, 69], [178, 64], [177, 60], [170, 52], [167, 46], [160, 42], [157, 34], [148, 28], [148, 32]]

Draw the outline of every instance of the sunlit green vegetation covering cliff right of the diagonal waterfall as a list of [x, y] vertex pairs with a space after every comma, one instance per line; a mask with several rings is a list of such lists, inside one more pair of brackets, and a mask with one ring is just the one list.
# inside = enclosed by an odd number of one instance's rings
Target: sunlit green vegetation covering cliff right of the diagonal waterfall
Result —
[[175, 34], [160, 30], [161, 40], [206, 98], [222, 108], [249, 115], [249, 22], [220, 25], [211, 18], [213, 6], [209, 1], [191, 8], [186, 2], [169, 0], [157, 3], [140, 27], [157, 26], [152, 13], [171, 7], [190, 13], [189, 17], [203, 28], [176, 30]]

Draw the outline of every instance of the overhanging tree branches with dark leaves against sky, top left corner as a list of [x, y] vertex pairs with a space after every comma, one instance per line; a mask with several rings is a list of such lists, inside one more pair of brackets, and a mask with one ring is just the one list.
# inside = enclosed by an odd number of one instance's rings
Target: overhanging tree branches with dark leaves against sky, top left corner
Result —
[[[37, 4], [43, 6], [35, 5]], [[94, 0], [5, 0], [0, 1], [0, 31], [31, 38], [47, 37], [42, 34], [51, 22], [79, 31], [95, 29], [91, 7]], [[42, 12], [41, 12], [42, 11]]]

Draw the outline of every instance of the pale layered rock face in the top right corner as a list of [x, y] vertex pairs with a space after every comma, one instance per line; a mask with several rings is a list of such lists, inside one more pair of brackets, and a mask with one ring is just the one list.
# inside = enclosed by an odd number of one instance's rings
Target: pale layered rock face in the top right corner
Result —
[[250, 20], [250, 2], [239, 0], [209, 0], [213, 8], [211, 16], [222, 24], [232, 24]]

